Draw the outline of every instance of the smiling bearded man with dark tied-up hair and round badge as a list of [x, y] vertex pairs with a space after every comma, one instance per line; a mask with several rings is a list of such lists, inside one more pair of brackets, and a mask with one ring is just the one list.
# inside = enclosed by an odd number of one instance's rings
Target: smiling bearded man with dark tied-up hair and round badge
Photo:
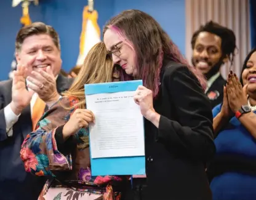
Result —
[[226, 81], [220, 67], [228, 60], [233, 65], [236, 36], [232, 30], [210, 21], [193, 34], [191, 45], [192, 63], [206, 76], [206, 95], [214, 108], [223, 100]]

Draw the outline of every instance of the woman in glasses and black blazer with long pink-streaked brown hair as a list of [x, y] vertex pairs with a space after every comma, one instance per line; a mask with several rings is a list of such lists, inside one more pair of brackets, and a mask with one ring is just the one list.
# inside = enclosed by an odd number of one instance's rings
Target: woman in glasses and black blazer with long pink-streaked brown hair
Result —
[[134, 100], [145, 117], [146, 178], [133, 178], [122, 199], [212, 199], [205, 164], [215, 145], [202, 74], [140, 10], [111, 18], [103, 39], [114, 64], [143, 80]]

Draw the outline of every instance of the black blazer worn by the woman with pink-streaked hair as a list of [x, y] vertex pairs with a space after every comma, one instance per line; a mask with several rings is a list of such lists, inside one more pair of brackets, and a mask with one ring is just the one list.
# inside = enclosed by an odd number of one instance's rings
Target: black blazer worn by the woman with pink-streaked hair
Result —
[[212, 110], [186, 66], [165, 62], [154, 100], [159, 129], [145, 120], [144, 200], [210, 200], [205, 162], [215, 153]]

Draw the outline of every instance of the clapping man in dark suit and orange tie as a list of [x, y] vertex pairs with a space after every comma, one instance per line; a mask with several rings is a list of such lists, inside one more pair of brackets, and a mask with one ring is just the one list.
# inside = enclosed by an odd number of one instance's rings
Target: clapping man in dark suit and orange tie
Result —
[[60, 74], [60, 42], [52, 26], [24, 26], [17, 34], [15, 56], [13, 79], [0, 82], [0, 199], [36, 200], [46, 178], [25, 172], [20, 146], [39, 115], [73, 80]]

